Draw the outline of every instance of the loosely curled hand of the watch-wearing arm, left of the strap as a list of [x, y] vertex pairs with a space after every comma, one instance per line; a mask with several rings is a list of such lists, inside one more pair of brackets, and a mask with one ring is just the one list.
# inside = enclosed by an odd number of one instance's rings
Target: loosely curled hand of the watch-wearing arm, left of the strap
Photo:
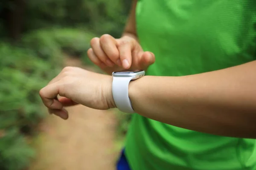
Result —
[[[89, 108], [115, 108], [112, 77], [77, 67], [65, 67], [57, 77], [39, 92], [49, 113], [68, 118], [65, 106], [81, 104]], [[57, 95], [62, 96], [60, 99]]]

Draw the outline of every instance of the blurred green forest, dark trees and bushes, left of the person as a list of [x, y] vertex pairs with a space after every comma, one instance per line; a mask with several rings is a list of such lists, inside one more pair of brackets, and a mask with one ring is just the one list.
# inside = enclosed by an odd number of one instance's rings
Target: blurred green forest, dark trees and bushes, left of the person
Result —
[[[130, 5], [131, 0], [0, 1], [0, 170], [25, 170], [37, 156], [31, 143], [46, 116], [38, 91], [61, 71], [63, 56], [92, 65], [90, 39], [119, 37]], [[121, 129], [127, 127], [122, 121]]]

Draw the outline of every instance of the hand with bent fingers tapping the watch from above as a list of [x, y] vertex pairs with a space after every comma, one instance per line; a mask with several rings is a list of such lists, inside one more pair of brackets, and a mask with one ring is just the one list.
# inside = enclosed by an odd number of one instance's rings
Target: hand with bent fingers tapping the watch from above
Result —
[[91, 48], [87, 54], [90, 60], [103, 71], [112, 73], [121, 69], [143, 69], [155, 62], [152, 52], [143, 51], [140, 44], [132, 36], [115, 39], [104, 34], [90, 41]]

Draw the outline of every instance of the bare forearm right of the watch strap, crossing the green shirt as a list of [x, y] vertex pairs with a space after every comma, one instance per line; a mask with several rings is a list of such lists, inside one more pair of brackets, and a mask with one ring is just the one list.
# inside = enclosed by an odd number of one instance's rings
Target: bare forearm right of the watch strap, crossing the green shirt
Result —
[[256, 139], [256, 61], [183, 77], [145, 76], [129, 85], [134, 110], [177, 127]]

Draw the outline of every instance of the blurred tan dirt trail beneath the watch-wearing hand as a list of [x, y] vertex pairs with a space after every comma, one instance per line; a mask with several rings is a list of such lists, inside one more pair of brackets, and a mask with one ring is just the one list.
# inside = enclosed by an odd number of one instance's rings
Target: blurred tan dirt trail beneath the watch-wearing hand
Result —
[[[79, 59], [67, 66], [83, 67]], [[88, 70], [93, 68], [86, 67]], [[37, 140], [38, 156], [29, 170], [115, 170], [119, 148], [115, 110], [84, 106], [67, 108], [68, 120], [51, 115], [42, 123]]]

